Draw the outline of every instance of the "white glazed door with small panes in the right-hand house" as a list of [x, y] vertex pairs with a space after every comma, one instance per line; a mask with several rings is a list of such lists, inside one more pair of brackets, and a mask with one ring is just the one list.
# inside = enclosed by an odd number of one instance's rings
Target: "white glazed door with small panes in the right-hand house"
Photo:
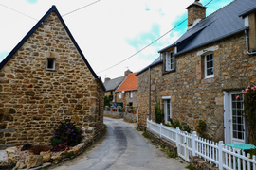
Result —
[[239, 93], [229, 93], [231, 144], [245, 144], [244, 103], [242, 99], [236, 99], [238, 95]]

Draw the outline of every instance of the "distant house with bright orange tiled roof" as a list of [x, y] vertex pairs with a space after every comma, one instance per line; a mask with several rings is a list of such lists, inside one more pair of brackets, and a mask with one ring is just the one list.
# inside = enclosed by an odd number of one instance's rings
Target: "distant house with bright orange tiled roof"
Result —
[[122, 106], [136, 106], [137, 107], [137, 73], [131, 73], [119, 85], [116, 90], [115, 97], [118, 103]]

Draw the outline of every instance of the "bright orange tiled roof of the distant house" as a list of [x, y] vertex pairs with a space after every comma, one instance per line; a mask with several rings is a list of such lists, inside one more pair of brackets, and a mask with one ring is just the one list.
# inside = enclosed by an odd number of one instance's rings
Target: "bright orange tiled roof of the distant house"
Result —
[[132, 73], [126, 77], [126, 79], [121, 83], [119, 89], [116, 92], [121, 91], [136, 91], [137, 90], [137, 73]]

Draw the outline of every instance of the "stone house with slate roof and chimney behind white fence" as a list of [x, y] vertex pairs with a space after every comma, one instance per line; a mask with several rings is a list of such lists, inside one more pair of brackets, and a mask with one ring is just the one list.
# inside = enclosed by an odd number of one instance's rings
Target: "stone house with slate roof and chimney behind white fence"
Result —
[[199, 1], [187, 9], [187, 32], [137, 74], [138, 126], [146, 127], [149, 114], [155, 120], [159, 101], [165, 122], [195, 130], [204, 120], [211, 140], [247, 144], [243, 102], [235, 97], [255, 85], [256, 1], [235, 0], [208, 17]]

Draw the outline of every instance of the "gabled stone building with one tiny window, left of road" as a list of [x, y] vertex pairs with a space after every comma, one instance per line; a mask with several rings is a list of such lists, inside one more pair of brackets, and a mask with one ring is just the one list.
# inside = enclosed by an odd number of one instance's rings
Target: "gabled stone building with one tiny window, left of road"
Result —
[[53, 6], [0, 63], [0, 146], [48, 144], [64, 119], [97, 137], [104, 90]]

